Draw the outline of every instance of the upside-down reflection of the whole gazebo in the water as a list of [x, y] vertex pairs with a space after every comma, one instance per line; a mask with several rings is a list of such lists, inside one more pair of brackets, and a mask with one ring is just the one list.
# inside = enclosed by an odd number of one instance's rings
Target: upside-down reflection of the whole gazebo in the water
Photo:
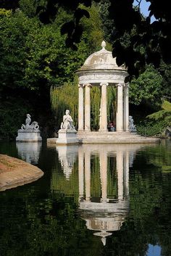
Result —
[[[78, 150], [80, 216], [88, 229], [96, 231], [106, 244], [112, 231], [119, 231], [128, 212], [129, 154], [127, 146], [83, 145]], [[101, 202], [91, 200], [91, 153], [97, 152], [100, 161]], [[117, 199], [107, 196], [107, 157], [116, 157]], [[85, 185], [85, 186], [84, 186]], [[85, 189], [85, 190], [84, 190]], [[84, 195], [84, 191], [85, 194]]]

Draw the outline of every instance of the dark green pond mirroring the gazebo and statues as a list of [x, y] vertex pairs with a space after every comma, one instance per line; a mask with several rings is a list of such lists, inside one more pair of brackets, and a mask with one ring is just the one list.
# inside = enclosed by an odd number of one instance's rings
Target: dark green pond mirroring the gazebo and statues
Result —
[[44, 172], [0, 192], [1, 256], [170, 256], [171, 141], [46, 146], [0, 141]]

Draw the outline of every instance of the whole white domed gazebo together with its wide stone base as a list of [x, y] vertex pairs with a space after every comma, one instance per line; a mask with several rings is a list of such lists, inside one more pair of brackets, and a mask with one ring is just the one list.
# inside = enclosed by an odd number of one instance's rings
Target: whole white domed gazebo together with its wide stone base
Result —
[[[155, 143], [156, 138], [138, 136], [129, 128], [129, 84], [125, 83], [128, 72], [125, 66], [117, 66], [116, 58], [112, 52], [105, 49], [103, 41], [102, 49], [91, 54], [84, 65], [76, 71], [78, 75], [78, 133], [75, 131], [75, 140], [69, 142], [60, 141], [61, 144], [135, 144]], [[101, 89], [101, 102], [99, 110], [99, 131], [91, 131], [91, 88], [98, 86]], [[116, 131], [107, 130], [107, 87], [117, 88], [116, 99]], [[64, 131], [66, 132], [66, 131]], [[70, 135], [70, 131], [67, 131]], [[49, 144], [59, 144], [57, 138], [47, 140]]]

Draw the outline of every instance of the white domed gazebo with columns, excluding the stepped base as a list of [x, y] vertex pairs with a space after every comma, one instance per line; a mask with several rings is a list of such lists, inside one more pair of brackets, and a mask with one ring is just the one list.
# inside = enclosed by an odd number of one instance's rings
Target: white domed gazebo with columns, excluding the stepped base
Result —
[[[107, 86], [117, 87], [116, 131], [129, 131], [128, 72], [118, 67], [112, 51], [102, 49], [91, 54], [76, 72], [79, 79], [78, 132], [91, 131], [91, 87], [101, 86], [99, 132], [107, 132]], [[85, 94], [85, 95], [84, 95]]]

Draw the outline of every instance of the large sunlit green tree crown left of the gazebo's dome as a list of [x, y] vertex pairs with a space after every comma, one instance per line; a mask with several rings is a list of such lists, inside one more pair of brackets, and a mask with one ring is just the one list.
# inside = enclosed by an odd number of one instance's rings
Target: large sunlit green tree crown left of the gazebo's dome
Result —
[[1, 83], [0, 86], [38, 90], [42, 80], [49, 86], [59, 86], [72, 80], [75, 70], [86, 58], [84, 42], [80, 51], [64, 46], [58, 24], [41, 26], [18, 11], [1, 22]]

